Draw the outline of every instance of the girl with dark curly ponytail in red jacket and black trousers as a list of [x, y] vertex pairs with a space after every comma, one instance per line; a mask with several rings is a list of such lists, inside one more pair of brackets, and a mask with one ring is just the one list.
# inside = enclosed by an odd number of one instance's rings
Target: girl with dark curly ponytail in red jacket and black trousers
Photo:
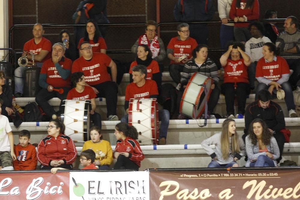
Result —
[[116, 125], [115, 136], [117, 139], [114, 157], [117, 162], [114, 169], [134, 169], [139, 171], [144, 154], [140, 148], [138, 139], [139, 133], [134, 126], [125, 122]]

